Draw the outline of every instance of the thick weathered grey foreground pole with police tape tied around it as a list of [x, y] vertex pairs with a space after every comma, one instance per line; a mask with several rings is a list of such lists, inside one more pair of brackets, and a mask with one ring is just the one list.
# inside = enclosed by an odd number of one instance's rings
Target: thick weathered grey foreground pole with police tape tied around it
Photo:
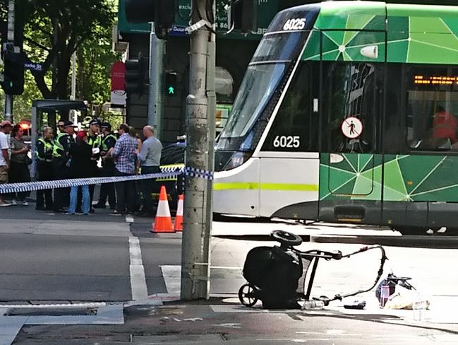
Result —
[[[193, 0], [186, 119], [186, 167], [214, 170], [215, 3]], [[207, 18], [212, 13], [212, 18]], [[213, 32], [213, 33], [212, 33]], [[181, 299], [210, 298], [212, 180], [186, 176], [181, 254]]]

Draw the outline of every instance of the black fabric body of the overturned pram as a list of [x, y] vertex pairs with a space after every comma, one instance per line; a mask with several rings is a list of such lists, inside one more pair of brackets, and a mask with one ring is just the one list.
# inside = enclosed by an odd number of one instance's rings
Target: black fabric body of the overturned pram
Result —
[[298, 281], [302, 260], [291, 250], [280, 247], [255, 247], [246, 256], [245, 279], [260, 289], [264, 308], [299, 308]]

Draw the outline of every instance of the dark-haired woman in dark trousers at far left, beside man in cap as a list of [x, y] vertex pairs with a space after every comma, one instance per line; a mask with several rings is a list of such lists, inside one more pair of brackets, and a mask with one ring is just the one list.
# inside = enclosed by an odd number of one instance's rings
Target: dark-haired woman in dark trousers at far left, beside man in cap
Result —
[[[11, 131], [11, 158], [8, 180], [10, 183], [30, 182], [29, 164], [32, 160], [28, 157], [29, 147], [23, 139], [24, 133], [19, 124]], [[17, 205], [18, 201], [24, 206], [28, 206], [27, 197], [30, 192], [13, 193], [11, 204]], [[17, 201], [16, 201], [17, 200]]]

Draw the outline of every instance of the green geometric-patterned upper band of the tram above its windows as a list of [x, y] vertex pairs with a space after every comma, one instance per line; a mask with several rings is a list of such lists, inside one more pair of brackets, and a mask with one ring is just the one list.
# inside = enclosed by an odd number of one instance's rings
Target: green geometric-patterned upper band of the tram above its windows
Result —
[[[326, 1], [289, 10], [279, 18], [318, 14], [303, 60], [458, 64], [458, 6]], [[363, 56], [365, 45], [377, 56]]]

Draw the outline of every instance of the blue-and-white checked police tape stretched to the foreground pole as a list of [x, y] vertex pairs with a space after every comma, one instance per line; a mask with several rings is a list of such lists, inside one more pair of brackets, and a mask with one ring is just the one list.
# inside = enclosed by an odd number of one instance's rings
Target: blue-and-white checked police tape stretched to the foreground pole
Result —
[[188, 177], [200, 177], [205, 180], [213, 180], [213, 172], [195, 168], [164, 168], [162, 172], [145, 175], [126, 175], [126, 176], [112, 176], [112, 177], [87, 177], [75, 178], [66, 180], [50, 180], [50, 181], [37, 181], [37, 182], [18, 182], [0, 185], [0, 194], [18, 193], [18, 192], [32, 192], [33, 190], [53, 189], [53, 188], [66, 188], [74, 186], [87, 186], [99, 185], [102, 183], [123, 182], [123, 181], [137, 181], [137, 180], [150, 180], [152, 178], [160, 177], [179, 177], [181, 175]]

